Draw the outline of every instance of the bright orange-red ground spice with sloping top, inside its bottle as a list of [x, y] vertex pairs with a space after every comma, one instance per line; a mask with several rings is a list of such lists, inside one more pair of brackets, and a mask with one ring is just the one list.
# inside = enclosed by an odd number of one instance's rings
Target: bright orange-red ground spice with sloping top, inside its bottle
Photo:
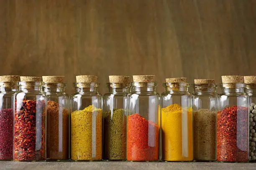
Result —
[[138, 113], [128, 116], [127, 160], [159, 159], [159, 126]]

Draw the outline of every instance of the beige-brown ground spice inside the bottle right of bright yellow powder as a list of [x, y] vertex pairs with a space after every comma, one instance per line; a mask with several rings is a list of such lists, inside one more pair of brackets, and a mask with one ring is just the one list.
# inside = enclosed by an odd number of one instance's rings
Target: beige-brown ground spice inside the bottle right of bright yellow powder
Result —
[[216, 112], [199, 109], [194, 112], [194, 160], [215, 160]]

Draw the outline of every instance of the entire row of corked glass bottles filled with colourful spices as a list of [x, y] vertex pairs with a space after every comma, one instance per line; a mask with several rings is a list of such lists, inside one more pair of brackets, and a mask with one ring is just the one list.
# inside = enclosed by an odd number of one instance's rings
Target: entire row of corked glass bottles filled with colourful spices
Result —
[[[1, 160], [10, 160], [12, 155], [14, 160], [19, 161], [69, 159], [69, 98], [64, 91], [63, 76], [43, 78], [44, 91], [41, 78], [1, 76], [0, 91], [5, 91], [0, 93], [3, 96], [0, 112]], [[216, 160], [217, 154], [217, 161], [246, 162], [249, 151], [250, 159], [254, 160], [255, 98], [249, 98], [252, 103], [249, 119], [243, 76], [222, 76], [222, 79], [223, 94], [219, 96], [213, 80], [195, 80], [193, 97], [188, 92], [186, 78], [166, 79], [166, 91], [160, 98], [156, 93], [154, 76], [133, 76], [131, 92], [128, 76], [110, 76], [110, 92], [104, 95], [102, 114], [97, 77], [77, 76], [77, 93], [71, 96], [71, 159], [102, 159], [103, 117], [103, 159], [106, 160], [212, 161]], [[17, 81], [20, 81], [19, 91], [15, 86]], [[249, 96], [253, 96], [256, 77], [245, 76], [245, 81]], [[13, 100], [15, 91], [18, 92]]]

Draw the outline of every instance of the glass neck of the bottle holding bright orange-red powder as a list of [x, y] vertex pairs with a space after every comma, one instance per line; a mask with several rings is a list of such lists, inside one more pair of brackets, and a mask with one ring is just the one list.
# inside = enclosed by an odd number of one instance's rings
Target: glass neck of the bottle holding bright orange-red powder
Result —
[[156, 82], [132, 82], [131, 91], [132, 92], [156, 92]]

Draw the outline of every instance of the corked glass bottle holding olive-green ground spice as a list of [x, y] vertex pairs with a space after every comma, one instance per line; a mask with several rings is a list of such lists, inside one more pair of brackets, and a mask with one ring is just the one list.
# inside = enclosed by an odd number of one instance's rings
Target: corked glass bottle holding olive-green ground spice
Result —
[[126, 159], [126, 116], [129, 76], [109, 76], [109, 92], [104, 94], [104, 160]]

